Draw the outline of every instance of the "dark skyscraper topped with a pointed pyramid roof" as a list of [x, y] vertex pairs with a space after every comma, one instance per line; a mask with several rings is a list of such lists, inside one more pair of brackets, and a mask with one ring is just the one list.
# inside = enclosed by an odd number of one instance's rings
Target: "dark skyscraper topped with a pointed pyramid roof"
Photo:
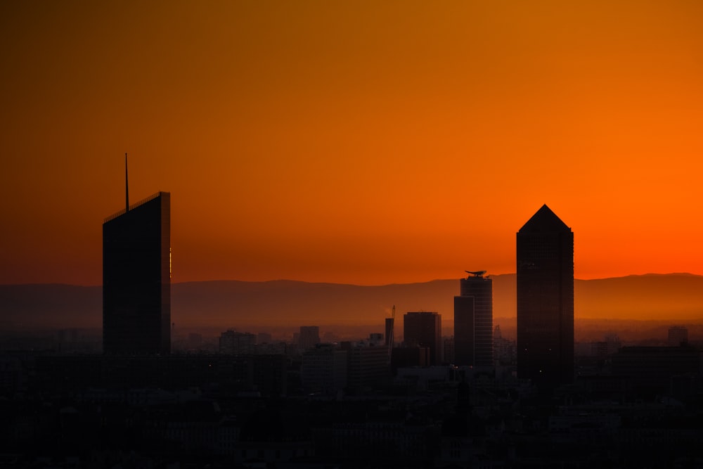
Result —
[[517, 376], [574, 378], [574, 233], [546, 205], [517, 232]]

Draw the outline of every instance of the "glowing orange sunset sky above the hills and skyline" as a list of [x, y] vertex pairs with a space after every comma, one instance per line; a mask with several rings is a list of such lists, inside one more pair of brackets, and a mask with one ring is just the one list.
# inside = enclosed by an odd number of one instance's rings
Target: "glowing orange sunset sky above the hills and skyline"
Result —
[[172, 193], [174, 281], [703, 274], [698, 1], [0, 2], [0, 283], [101, 283]]

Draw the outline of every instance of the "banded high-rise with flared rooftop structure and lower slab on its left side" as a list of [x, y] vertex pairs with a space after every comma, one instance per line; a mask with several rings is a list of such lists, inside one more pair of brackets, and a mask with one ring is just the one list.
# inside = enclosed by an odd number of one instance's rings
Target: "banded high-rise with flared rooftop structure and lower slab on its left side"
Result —
[[493, 365], [493, 280], [469, 272], [454, 297], [454, 364]]

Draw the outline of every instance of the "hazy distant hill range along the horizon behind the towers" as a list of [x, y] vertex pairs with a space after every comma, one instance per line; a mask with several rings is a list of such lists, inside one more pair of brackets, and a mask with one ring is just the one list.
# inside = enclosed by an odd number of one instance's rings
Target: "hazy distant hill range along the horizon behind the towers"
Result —
[[[494, 279], [494, 323], [514, 328], [515, 274]], [[459, 281], [437, 280], [381, 286], [299, 281], [204, 281], [172, 285], [176, 326], [236, 327], [361, 326], [376, 324], [396, 305], [396, 325], [407, 311], [438, 311], [451, 327]], [[703, 321], [703, 276], [648, 274], [576, 280], [579, 321]], [[511, 326], [512, 321], [512, 326]], [[0, 285], [0, 328], [99, 328], [102, 288], [75, 285]], [[505, 325], [505, 326], [503, 326]], [[402, 329], [399, 329], [400, 333]]]

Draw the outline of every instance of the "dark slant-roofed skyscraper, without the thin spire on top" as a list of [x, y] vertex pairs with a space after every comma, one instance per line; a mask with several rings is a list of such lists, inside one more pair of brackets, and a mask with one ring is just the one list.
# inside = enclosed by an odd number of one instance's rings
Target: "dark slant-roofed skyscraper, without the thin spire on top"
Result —
[[171, 194], [103, 223], [103, 352], [171, 351]]

